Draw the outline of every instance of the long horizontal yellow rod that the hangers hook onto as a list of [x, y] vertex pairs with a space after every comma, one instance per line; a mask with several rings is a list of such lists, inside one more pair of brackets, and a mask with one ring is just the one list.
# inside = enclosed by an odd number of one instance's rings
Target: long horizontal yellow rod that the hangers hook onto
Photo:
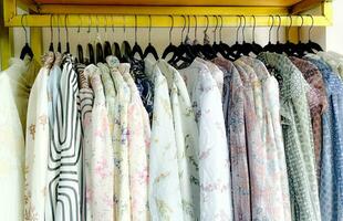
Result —
[[[224, 27], [238, 27], [241, 22], [241, 19], [238, 15], [220, 15], [222, 18]], [[23, 19], [22, 19], [23, 17]], [[135, 17], [137, 18], [137, 23], [135, 23]], [[206, 27], [208, 17], [208, 25], [216, 27], [218, 25], [218, 20], [216, 15], [205, 15], [197, 14], [189, 15], [184, 14], [186, 18], [187, 25], [195, 27], [196, 22], [198, 27]], [[183, 15], [173, 15], [174, 27], [180, 28], [185, 25], [185, 19]], [[188, 24], [189, 17], [189, 24]], [[246, 27], [253, 25], [252, 15], [246, 17]], [[272, 19], [274, 17], [274, 19]], [[278, 18], [277, 18], [278, 17]], [[166, 28], [172, 25], [170, 15], [165, 14], [153, 14], [152, 18], [152, 28]], [[273, 15], [256, 15], [256, 27], [270, 27], [272, 20], [274, 20], [274, 25], [289, 27], [292, 20], [292, 27], [325, 27], [330, 21], [323, 15], [280, 15], [281, 23], [279, 23], [279, 14]], [[312, 20], [313, 19], [313, 20]], [[28, 15], [15, 15], [9, 27], [67, 27], [67, 28], [77, 28], [77, 27], [91, 27], [91, 28], [116, 28], [116, 27], [126, 27], [126, 28], [148, 28], [149, 19], [148, 15], [142, 14], [28, 14]]]

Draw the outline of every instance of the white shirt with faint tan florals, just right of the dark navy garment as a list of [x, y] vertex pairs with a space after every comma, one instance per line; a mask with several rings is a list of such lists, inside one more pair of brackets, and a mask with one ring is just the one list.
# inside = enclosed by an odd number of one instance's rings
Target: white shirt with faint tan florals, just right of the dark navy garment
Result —
[[148, 192], [152, 220], [184, 220], [168, 84], [158, 66], [149, 60], [145, 60], [145, 73], [155, 85]]

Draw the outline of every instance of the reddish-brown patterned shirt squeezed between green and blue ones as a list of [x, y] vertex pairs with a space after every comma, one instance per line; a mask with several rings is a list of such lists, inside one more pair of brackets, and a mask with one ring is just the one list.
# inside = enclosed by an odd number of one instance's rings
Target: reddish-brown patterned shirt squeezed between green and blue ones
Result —
[[322, 149], [322, 114], [328, 108], [328, 99], [323, 77], [318, 67], [311, 62], [298, 57], [290, 57], [292, 63], [302, 72], [303, 77], [310, 84], [308, 102], [311, 110], [312, 131], [314, 141], [315, 170], [320, 177], [320, 162]]

